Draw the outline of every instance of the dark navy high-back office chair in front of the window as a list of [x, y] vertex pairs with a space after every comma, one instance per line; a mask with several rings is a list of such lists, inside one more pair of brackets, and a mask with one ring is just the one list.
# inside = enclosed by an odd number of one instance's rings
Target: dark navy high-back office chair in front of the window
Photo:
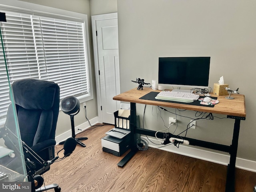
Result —
[[[43, 160], [52, 160], [54, 158], [54, 146], [56, 124], [60, 107], [60, 87], [54, 82], [35, 79], [17, 80], [12, 84], [12, 92], [14, 95], [14, 102], [16, 104], [16, 112], [18, 117], [18, 125], [20, 129], [20, 137], [25, 144], [31, 148]], [[12, 105], [9, 106], [7, 112], [7, 119], [5, 127], [16, 134], [15, 124], [13, 119], [8, 118], [13, 116]], [[10, 134], [9, 134], [10, 136]], [[14, 147], [14, 140], [3, 137], [5, 145], [17, 152]], [[17, 152], [18, 153], [18, 152]], [[24, 154], [25, 159], [27, 154]], [[26, 170], [35, 170], [32, 176], [28, 177], [29, 181], [34, 179], [40, 180], [39, 175], [50, 169], [50, 165], [42, 166], [41, 164], [33, 164], [34, 158], [29, 157], [32, 162], [26, 163]], [[5, 157], [6, 166], [11, 167], [12, 170], [20, 172], [20, 162], [16, 162], [15, 158]], [[18, 165], [18, 166], [17, 166]], [[38, 181], [43, 182], [43, 180]], [[42, 185], [42, 183], [40, 183]], [[58, 184], [52, 184], [49, 188], [38, 189], [37, 191], [44, 191], [54, 188], [55, 192], [60, 191]]]

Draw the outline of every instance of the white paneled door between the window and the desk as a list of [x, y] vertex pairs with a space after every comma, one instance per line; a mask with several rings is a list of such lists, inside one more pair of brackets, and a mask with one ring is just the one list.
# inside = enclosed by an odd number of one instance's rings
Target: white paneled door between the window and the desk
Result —
[[92, 24], [95, 24], [97, 31], [94, 37], [97, 47], [94, 47], [94, 60], [97, 57], [98, 114], [102, 122], [114, 124], [114, 112], [120, 108], [120, 101], [113, 100], [114, 96], [120, 94], [118, 21], [117, 14], [104, 14], [100, 17], [92, 16]]

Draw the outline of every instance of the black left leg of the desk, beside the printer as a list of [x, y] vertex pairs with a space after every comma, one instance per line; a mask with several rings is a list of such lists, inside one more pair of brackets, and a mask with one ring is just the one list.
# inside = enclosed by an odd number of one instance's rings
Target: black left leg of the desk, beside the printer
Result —
[[136, 129], [136, 103], [131, 103], [131, 110], [130, 110], [131, 151], [117, 164], [120, 167], [123, 167], [132, 158], [132, 156], [134, 156], [134, 154], [138, 151], [137, 134], [135, 132], [135, 129]]

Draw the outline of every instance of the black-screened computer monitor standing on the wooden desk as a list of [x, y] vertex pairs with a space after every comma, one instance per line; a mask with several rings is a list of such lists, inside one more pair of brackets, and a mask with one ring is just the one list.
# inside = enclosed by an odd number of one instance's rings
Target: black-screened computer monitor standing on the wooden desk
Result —
[[210, 57], [159, 57], [158, 84], [208, 88]]

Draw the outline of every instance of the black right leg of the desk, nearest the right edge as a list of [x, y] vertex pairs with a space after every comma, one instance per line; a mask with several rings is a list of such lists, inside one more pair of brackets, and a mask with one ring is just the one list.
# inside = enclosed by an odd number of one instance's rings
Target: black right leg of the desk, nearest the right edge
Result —
[[228, 164], [226, 192], [235, 191], [235, 169], [236, 169], [236, 154], [238, 148], [238, 136], [240, 130], [240, 119], [235, 119], [232, 145], [230, 146], [230, 162]]

